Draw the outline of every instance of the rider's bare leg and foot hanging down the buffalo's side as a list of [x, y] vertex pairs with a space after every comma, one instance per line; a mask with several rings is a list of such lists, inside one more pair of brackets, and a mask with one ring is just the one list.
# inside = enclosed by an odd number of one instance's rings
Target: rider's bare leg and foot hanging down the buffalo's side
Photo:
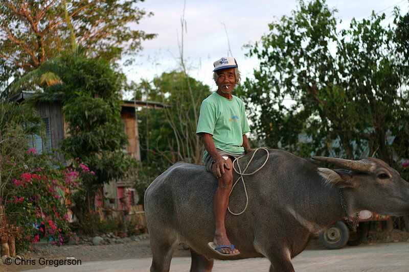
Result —
[[[231, 246], [229, 238], [226, 234], [226, 229], [224, 226], [224, 220], [226, 218], [226, 211], [229, 205], [229, 193], [233, 186], [233, 163], [230, 158], [226, 160], [226, 164], [230, 169], [224, 168], [224, 174], [218, 179], [219, 185], [216, 190], [216, 194], [213, 202], [214, 215], [216, 219], [216, 231], [214, 236], [214, 243], [217, 246], [228, 245]], [[214, 171], [212, 166], [212, 171]], [[232, 254], [239, 252], [237, 249], [222, 248], [219, 250], [224, 254]]]

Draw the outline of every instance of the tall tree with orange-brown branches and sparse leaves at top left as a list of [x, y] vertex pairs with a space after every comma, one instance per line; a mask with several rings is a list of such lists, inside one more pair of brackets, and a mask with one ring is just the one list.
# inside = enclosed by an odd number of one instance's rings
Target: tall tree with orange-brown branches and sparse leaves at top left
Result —
[[76, 43], [88, 48], [90, 57], [117, 60], [122, 54], [135, 54], [141, 49], [143, 40], [155, 36], [133, 29], [132, 24], [152, 15], [139, 9], [137, 2], [0, 2], [1, 70], [5, 70], [8, 77], [18, 78], [22, 72], [38, 68], [69, 47], [71, 30]]

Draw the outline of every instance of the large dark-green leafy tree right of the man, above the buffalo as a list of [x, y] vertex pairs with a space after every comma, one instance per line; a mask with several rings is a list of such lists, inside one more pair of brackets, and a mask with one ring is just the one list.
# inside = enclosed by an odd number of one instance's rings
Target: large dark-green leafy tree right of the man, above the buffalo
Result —
[[353, 159], [369, 149], [392, 163], [389, 136], [408, 119], [409, 67], [396, 50], [395, 29], [373, 13], [338, 31], [335, 12], [325, 1], [299, 1], [290, 17], [247, 45], [261, 61], [243, 88], [259, 109], [255, 131], [267, 145], [302, 156]]

